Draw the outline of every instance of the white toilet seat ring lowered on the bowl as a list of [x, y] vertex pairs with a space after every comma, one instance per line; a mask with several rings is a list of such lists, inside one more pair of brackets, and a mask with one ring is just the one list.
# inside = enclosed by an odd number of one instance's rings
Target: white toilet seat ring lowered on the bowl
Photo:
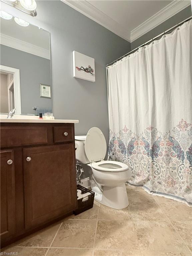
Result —
[[91, 166], [96, 170], [107, 172], [121, 172], [128, 169], [126, 164], [117, 161], [99, 161], [91, 163]]

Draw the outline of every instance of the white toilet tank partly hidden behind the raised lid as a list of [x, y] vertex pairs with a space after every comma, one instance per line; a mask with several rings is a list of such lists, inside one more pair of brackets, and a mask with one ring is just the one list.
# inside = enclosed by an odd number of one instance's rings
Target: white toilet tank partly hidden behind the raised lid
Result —
[[78, 162], [81, 162], [82, 164], [90, 163], [90, 161], [88, 160], [85, 154], [85, 139], [86, 139], [86, 135], [75, 136], [75, 147], [77, 148], [75, 150], [75, 156], [76, 156], [76, 160]]

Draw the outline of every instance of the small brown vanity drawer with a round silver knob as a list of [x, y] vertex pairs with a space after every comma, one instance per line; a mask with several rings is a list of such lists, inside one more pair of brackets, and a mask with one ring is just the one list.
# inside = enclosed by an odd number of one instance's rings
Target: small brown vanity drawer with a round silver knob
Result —
[[55, 143], [74, 140], [72, 126], [54, 126], [53, 134]]

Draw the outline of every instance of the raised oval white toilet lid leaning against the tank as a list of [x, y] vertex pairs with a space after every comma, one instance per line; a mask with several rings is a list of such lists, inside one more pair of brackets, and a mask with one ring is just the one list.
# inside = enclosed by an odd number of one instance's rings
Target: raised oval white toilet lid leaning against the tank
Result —
[[91, 128], [85, 140], [85, 153], [90, 162], [101, 161], [104, 159], [107, 151], [107, 144], [102, 131], [97, 128]]

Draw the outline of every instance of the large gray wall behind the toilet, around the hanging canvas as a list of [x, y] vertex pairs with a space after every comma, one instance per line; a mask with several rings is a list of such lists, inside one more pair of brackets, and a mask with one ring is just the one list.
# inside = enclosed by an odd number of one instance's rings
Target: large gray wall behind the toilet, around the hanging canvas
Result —
[[[37, 1], [37, 17], [3, 4], [3, 10], [50, 32], [53, 113], [79, 119], [76, 135], [99, 127], [108, 143], [109, 124], [105, 65], [130, 50], [130, 43], [61, 1]], [[72, 52], [95, 58], [96, 82], [73, 77]]]

